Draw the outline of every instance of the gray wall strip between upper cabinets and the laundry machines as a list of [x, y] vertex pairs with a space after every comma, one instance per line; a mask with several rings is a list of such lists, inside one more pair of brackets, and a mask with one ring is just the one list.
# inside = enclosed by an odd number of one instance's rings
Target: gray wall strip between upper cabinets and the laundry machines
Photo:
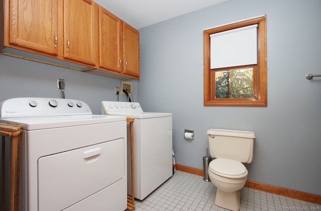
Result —
[[[115, 87], [121, 81], [47, 64], [0, 55], [0, 102], [14, 97], [61, 98], [57, 79], [65, 79], [65, 97], [86, 102], [93, 114], [101, 114], [101, 101], [117, 101]], [[133, 85], [137, 100], [137, 81]], [[126, 101], [125, 95], [119, 95]]]

